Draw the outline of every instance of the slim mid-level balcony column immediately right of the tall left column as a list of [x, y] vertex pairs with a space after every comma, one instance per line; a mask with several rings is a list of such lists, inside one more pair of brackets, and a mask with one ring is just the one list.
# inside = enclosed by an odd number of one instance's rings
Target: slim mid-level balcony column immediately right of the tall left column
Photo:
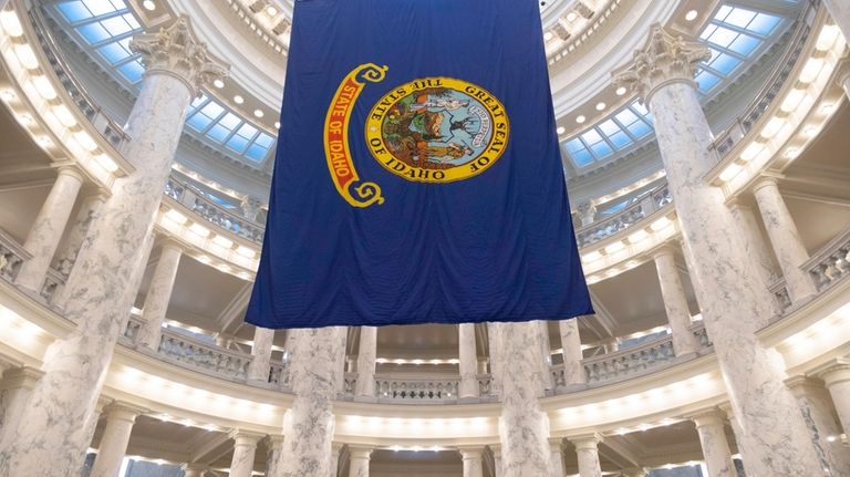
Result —
[[156, 262], [154, 277], [145, 295], [145, 305], [142, 310], [143, 324], [138, 329], [136, 343], [148, 350], [159, 349], [159, 339], [163, 334], [163, 323], [168, 311], [168, 302], [174, 291], [174, 280], [177, 278], [177, 269], [180, 266], [183, 248], [172, 240], [163, 242], [159, 251], [159, 261]]

